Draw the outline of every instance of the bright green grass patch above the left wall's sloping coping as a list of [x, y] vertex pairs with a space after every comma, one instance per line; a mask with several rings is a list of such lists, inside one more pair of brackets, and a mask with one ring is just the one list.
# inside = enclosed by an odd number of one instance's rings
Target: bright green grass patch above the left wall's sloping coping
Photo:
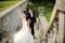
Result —
[[17, 3], [18, 1], [0, 1], [0, 11], [3, 11], [12, 5], [14, 5], [15, 3]]

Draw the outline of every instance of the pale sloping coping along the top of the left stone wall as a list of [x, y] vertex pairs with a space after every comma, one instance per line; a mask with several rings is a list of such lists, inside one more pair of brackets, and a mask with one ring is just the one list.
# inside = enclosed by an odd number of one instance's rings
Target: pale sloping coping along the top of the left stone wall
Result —
[[0, 18], [3, 17], [4, 15], [6, 15], [8, 13], [10, 13], [12, 10], [14, 10], [15, 8], [17, 8], [18, 5], [23, 4], [24, 2], [26, 2], [26, 0], [22, 0], [21, 2], [16, 3], [13, 6], [10, 6], [9, 9], [0, 12]]

